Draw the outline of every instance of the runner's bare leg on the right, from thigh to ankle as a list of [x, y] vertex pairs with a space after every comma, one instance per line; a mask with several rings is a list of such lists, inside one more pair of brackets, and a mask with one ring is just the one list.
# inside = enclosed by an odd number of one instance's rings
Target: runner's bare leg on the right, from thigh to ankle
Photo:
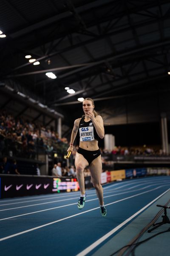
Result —
[[101, 155], [95, 158], [91, 165], [89, 166], [91, 171], [91, 181], [93, 183], [94, 188], [96, 189], [96, 194], [99, 198], [100, 205], [103, 205], [103, 188], [100, 184], [100, 178], [102, 173], [102, 160]]

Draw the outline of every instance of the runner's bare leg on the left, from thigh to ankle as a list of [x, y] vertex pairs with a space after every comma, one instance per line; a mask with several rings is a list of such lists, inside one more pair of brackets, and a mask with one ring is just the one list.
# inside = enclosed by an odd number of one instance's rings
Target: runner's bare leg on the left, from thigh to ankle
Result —
[[84, 169], [88, 166], [88, 161], [82, 156], [82, 154], [76, 153], [75, 157], [75, 166], [76, 166], [76, 174], [77, 180], [79, 183], [80, 192], [82, 195], [85, 194], [85, 179], [84, 179]]

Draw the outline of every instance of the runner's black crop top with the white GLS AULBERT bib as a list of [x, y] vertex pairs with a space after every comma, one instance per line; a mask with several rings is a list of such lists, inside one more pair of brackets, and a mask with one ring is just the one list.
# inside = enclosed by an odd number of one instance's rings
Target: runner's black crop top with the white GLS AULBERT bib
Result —
[[79, 137], [80, 141], [99, 140], [99, 136], [93, 125], [93, 122], [91, 120], [85, 122], [85, 116], [83, 116], [79, 122]]

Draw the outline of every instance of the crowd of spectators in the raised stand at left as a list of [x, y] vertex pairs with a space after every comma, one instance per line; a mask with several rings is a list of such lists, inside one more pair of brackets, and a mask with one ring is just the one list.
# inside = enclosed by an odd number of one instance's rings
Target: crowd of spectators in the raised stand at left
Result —
[[59, 138], [51, 127], [45, 128], [23, 117], [14, 118], [7, 111], [0, 111], [0, 157], [4, 155], [35, 159], [41, 150], [45, 153], [59, 150], [65, 145], [66, 138]]

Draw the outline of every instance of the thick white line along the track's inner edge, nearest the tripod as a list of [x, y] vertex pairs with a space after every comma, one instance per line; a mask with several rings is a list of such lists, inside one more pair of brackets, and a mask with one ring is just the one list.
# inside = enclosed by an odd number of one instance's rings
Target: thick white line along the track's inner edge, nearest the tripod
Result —
[[[109, 236], [113, 235], [117, 230], [119, 230], [121, 227], [123, 227], [125, 224], [127, 224], [129, 221], [131, 221], [134, 217], [136, 217], [137, 215], [139, 215], [140, 212], [144, 211], [144, 209], [146, 209], [147, 207], [149, 207], [151, 204], [153, 204], [156, 200], [158, 200], [162, 195], [164, 195], [165, 193], [167, 193], [170, 189], [167, 189], [167, 191], [165, 191], [164, 193], [162, 193], [161, 195], [159, 195], [157, 198], [155, 198], [153, 201], [151, 201], [149, 204], [145, 205], [142, 209], [140, 209], [138, 212], [136, 212], [135, 214], [133, 214], [132, 216], [130, 216], [129, 218], [127, 218], [125, 221], [123, 221], [121, 224], [119, 224], [117, 227], [113, 228], [113, 230], [111, 230], [110, 232], [108, 232], [107, 234], [105, 234], [105, 236], [102, 236], [100, 239], [98, 239], [97, 241], [95, 241], [93, 244], [91, 244], [90, 246], [88, 246], [85, 250], [82, 250], [82, 252], [78, 253], [76, 256], [85, 256], [87, 255], [89, 252], [91, 252], [91, 250], [93, 250], [95, 247], [97, 247], [99, 244], [101, 244], [103, 241], [105, 241], [106, 239], [108, 239]], [[108, 204], [109, 205], [109, 204]]]

